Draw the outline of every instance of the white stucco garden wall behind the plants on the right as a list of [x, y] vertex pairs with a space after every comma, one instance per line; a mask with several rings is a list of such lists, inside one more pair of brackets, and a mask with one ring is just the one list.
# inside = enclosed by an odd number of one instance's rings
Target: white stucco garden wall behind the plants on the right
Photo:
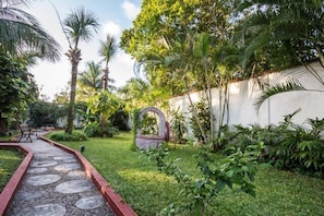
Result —
[[[321, 64], [312, 63], [311, 67], [315, 69], [324, 80], [324, 69]], [[254, 104], [262, 93], [259, 82], [261, 81], [268, 84], [284, 82], [287, 77], [289, 77], [289, 74], [292, 74], [293, 77], [298, 77], [300, 83], [307, 89], [314, 91], [299, 91], [275, 95], [264, 101], [257, 111]], [[299, 75], [296, 76], [296, 74]], [[193, 103], [196, 103], [203, 97], [203, 92], [193, 93], [191, 94], [191, 98]], [[218, 121], [218, 95], [219, 91], [214, 88], [213, 108], [216, 117], [215, 123]], [[170, 109], [173, 110], [179, 107], [188, 118], [187, 112], [190, 103], [187, 95], [171, 98], [169, 100], [169, 105]], [[284, 116], [290, 115], [299, 108], [301, 111], [293, 117], [293, 122], [298, 124], [303, 124], [308, 118], [324, 118], [324, 85], [314, 79], [314, 76], [311, 75], [304, 67], [297, 67], [279, 73], [271, 73], [257, 79], [250, 79], [229, 84], [229, 124], [277, 124], [283, 121]], [[225, 118], [225, 122], [226, 119], [227, 118]]]

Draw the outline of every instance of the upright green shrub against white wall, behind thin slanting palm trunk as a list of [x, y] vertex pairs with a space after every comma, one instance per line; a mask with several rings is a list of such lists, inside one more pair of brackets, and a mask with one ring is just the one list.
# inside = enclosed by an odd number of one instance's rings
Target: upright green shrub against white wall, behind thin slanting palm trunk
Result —
[[[211, 115], [209, 115], [209, 108], [207, 105], [207, 101], [205, 99], [202, 99], [201, 101], [193, 105], [196, 110], [196, 115], [199, 118], [199, 121], [202, 124], [203, 131], [205, 131], [206, 134], [211, 133]], [[189, 112], [193, 112], [193, 107], [189, 107]], [[202, 132], [197, 125], [197, 122], [195, 118], [192, 116], [190, 119], [190, 127], [194, 134], [194, 136], [199, 140], [199, 142], [205, 143], [204, 136], [202, 135]]]

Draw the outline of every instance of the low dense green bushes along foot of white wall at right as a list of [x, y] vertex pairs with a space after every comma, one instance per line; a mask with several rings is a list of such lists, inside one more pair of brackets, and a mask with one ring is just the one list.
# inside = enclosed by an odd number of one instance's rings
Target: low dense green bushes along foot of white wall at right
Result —
[[241, 127], [226, 129], [220, 139], [224, 152], [231, 147], [245, 148], [249, 144], [263, 142], [266, 149], [260, 158], [280, 169], [297, 170], [322, 176], [324, 169], [324, 119], [308, 119], [311, 129], [292, 123], [292, 115], [287, 115], [278, 125]]

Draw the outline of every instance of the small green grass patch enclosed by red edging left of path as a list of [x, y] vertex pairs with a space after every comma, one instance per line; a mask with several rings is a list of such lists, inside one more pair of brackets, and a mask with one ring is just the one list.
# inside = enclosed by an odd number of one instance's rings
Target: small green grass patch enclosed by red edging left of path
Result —
[[3, 190], [23, 159], [17, 151], [0, 148], [0, 191]]

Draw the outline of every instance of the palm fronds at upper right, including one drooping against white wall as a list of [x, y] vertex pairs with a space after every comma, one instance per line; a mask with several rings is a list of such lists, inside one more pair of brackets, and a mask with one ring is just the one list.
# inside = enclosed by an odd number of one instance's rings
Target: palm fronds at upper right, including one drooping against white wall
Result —
[[[239, 7], [247, 17], [242, 20], [241, 31], [250, 34], [244, 61], [255, 50], [268, 44], [281, 44], [288, 47], [297, 60], [324, 85], [323, 79], [308, 62], [319, 60], [324, 67], [324, 1], [308, 0], [249, 0]], [[267, 86], [256, 101], [257, 109], [273, 95], [305, 89], [295, 77], [284, 84]]]

